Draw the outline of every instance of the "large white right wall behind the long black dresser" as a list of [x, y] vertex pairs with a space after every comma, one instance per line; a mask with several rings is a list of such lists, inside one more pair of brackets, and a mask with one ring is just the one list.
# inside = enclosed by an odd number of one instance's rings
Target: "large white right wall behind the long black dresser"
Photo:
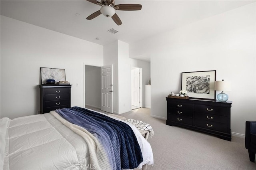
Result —
[[216, 80], [232, 82], [231, 130], [244, 134], [256, 120], [255, 11], [248, 4], [130, 44], [131, 55], [151, 56], [152, 116], [166, 119], [165, 97], [178, 93], [182, 72], [216, 70]]

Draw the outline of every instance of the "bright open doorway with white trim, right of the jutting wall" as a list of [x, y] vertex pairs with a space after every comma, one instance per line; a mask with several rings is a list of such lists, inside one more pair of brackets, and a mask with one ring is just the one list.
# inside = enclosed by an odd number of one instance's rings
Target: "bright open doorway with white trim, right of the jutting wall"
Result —
[[141, 86], [142, 86], [142, 79], [141, 79], [141, 72], [142, 69], [141, 68], [137, 68], [137, 67], [132, 67], [131, 69], [131, 92], [132, 92], [132, 110], [133, 109], [138, 109], [141, 107], [141, 96], [142, 96], [142, 92], [141, 92]]

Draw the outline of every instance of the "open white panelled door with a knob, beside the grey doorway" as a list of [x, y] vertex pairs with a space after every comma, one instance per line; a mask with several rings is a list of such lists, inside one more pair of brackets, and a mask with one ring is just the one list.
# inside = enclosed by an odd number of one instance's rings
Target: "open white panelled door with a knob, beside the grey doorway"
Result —
[[113, 113], [113, 65], [101, 67], [101, 110]]

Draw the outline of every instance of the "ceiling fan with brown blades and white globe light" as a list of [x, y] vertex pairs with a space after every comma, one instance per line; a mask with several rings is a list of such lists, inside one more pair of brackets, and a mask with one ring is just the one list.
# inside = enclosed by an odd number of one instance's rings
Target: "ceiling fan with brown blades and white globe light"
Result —
[[122, 24], [122, 21], [116, 14], [115, 10], [122, 10], [122, 11], [137, 11], [141, 10], [140, 4], [119, 4], [115, 5], [114, 0], [101, 0], [100, 2], [97, 0], [87, 0], [89, 2], [92, 2], [96, 5], [101, 6], [100, 10], [94, 12], [90, 16], [88, 16], [87, 20], [92, 20], [93, 18], [99, 16], [100, 14], [103, 14], [106, 17], [111, 17], [114, 22], [119, 26]]

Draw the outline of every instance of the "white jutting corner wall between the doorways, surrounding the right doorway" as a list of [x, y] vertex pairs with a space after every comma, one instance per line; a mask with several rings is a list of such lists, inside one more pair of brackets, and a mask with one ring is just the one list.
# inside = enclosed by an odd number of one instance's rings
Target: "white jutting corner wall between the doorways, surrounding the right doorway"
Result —
[[113, 64], [114, 113], [131, 111], [131, 67], [142, 68], [142, 106], [144, 85], [150, 77], [150, 63], [129, 58], [129, 45], [116, 41], [104, 45], [104, 65]]

